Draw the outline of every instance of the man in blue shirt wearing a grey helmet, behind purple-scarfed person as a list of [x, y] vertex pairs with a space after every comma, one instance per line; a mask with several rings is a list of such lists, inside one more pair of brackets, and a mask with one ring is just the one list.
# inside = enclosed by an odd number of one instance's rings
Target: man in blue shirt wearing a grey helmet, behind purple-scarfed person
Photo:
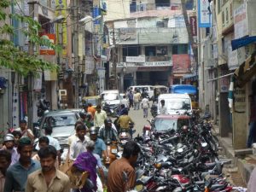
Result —
[[90, 127], [90, 140], [95, 142], [95, 147], [93, 150], [94, 154], [98, 154], [100, 157], [102, 157], [102, 153], [104, 153], [105, 157], [108, 157], [106, 152], [106, 144], [101, 138], [98, 138], [98, 131], [94, 126]]

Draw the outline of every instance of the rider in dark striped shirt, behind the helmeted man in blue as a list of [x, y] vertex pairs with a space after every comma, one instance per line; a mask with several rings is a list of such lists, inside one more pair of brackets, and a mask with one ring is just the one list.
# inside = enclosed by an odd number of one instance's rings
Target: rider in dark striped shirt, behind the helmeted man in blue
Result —
[[98, 136], [104, 141], [104, 143], [107, 143], [108, 140], [119, 141], [117, 130], [111, 119], [104, 120], [104, 125], [100, 127]]

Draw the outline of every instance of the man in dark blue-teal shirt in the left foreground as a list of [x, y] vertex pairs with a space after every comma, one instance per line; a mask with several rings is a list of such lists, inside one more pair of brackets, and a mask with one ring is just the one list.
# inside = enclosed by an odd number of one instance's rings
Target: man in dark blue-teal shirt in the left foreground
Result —
[[27, 176], [41, 168], [38, 161], [32, 160], [32, 141], [28, 137], [20, 138], [18, 153], [20, 160], [6, 172], [4, 192], [25, 191]]

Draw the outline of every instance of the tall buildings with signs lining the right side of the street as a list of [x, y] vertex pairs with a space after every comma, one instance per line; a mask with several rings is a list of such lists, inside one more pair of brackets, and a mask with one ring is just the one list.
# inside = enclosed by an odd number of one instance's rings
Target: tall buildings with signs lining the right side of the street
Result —
[[[201, 108], [212, 113], [221, 137], [231, 137], [234, 148], [245, 148], [250, 102], [255, 92], [256, 67], [254, 1], [212, 1], [212, 27], [201, 28]], [[240, 45], [237, 47], [237, 43]], [[230, 82], [235, 80], [233, 102]], [[253, 85], [254, 84], [254, 85]]]

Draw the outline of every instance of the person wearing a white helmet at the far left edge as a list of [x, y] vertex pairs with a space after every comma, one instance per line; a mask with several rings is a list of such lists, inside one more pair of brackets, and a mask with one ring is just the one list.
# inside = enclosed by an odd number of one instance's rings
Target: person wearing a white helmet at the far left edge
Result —
[[12, 154], [11, 165], [14, 165], [20, 159], [20, 154], [17, 152], [17, 148], [15, 148], [15, 137], [8, 133], [3, 137], [3, 149], [9, 151]]

